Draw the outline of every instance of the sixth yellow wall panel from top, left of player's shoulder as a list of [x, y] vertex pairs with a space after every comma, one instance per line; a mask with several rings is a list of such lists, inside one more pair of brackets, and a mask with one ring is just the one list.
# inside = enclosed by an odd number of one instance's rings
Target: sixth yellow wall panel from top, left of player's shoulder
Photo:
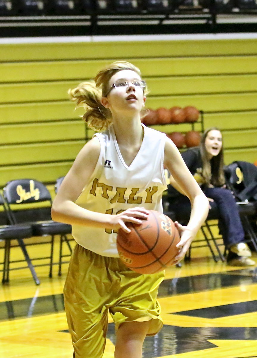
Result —
[[0, 146], [1, 165], [74, 160], [84, 140]]

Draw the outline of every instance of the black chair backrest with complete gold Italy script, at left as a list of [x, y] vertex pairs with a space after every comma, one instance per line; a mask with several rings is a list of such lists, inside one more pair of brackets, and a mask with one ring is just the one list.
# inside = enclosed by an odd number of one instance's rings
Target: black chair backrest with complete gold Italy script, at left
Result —
[[51, 220], [51, 194], [38, 180], [11, 180], [3, 195], [13, 223]]

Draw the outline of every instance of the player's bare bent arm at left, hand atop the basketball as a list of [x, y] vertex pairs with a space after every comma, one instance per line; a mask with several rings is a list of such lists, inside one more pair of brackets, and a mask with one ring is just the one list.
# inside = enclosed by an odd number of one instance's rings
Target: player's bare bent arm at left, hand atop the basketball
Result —
[[87, 185], [100, 154], [100, 142], [97, 137], [90, 140], [79, 152], [71, 169], [65, 176], [52, 205], [52, 218], [55, 221], [83, 226], [122, 228], [130, 230], [125, 222], [140, 224], [147, 218], [144, 208], [132, 208], [117, 215], [96, 213], [75, 204], [85, 185]]

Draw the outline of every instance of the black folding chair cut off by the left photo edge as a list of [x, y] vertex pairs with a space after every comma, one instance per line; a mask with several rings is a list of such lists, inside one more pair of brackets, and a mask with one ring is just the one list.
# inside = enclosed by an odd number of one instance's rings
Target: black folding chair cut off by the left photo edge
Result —
[[[24, 239], [31, 238], [33, 236], [32, 227], [30, 224], [11, 224], [12, 220], [10, 218], [10, 213], [6, 208], [4, 199], [2, 195], [0, 195], [0, 241], [4, 241], [4, 261], [1, 262], [3, 265], [3, 284], [9, 282], [9, 273], [10, 270], [18, 270], [24, 269], [27, 266], [15, 266], [10, 268], [10, 264], [20, 263], [26, 261], [28, 268], [33, 276], [33, 279], [37, 285], [40, 284], [38, 276], [36, 275], [34, 266], [31, 263], [30, 257], [28, 255], [28, 251], [26, 249]], [[17, 241], [18, 245], [13, 243]], [[11, 248], [20, 247], [21, 251], [24, 255], [23, 260], [11, 260], [10, 259], [10, 251]]]

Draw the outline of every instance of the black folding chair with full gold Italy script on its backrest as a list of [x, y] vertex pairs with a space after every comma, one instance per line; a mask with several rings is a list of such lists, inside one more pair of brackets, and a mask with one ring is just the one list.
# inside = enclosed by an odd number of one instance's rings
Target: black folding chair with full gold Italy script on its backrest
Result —
[[34, 262], [48, 259], [49, 263], [34, 266], [49, 265], [49, 277], [52, 277], [54, 237], [66, 233], [67, 227], [66, 224], [51, 219], [52, 199], [49, 190], [37, 180], [19, 179], [8, 182], [3, 194], [13, 224], [31, 225], [33, 237], [50, 237], [50, 240], [39, 240], [32, 244], [50, 244], [49, 256], [34, 257], [30, 260]]

